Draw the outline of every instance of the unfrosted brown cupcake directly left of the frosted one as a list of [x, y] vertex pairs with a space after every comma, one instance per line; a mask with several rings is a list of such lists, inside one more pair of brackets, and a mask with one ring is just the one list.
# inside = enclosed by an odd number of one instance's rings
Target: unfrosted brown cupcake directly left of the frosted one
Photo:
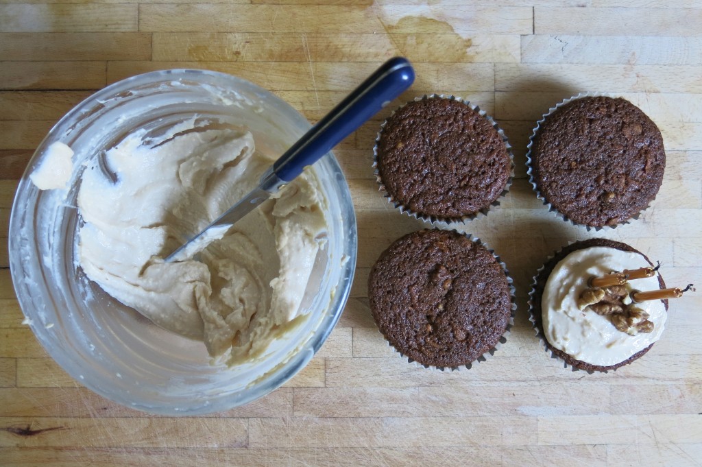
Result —
[[470, 368], [505, 341], [515, 308], [511, 282], [478, 239], [419, 230], [383, 251], [368, 295], [378, 329], [410, 362]]

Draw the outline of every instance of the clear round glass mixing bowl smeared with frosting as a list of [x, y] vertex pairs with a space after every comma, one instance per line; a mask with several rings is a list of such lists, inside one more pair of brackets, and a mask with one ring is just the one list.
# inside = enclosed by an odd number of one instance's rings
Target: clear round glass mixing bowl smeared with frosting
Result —
[[[89, 281], [76, 261], [77, 192], [83, 162], [135, 129], [195, 115], [245, 125], [257, 150], [282, 154], [310, 123], [269, 91], [227, 74], [166, 70], [107, 86], [48, 133], [20, 180], [10, 219], [15, 291], [32, 331], [74, 379], [114, 402], [146, 412], [220, 412], [270, 393], [310, 361], [333, 329], [353, 279], [356, 221], [350, 192], [331, 152], [312, 171], [327, 198], [329, 238], [305, 290], [307, 319], [264, 357], [227, 369], [204, 344], [165, 331]], [[38, 190], [28, 178], [46, 148], [74, 150], [69, 190]]]

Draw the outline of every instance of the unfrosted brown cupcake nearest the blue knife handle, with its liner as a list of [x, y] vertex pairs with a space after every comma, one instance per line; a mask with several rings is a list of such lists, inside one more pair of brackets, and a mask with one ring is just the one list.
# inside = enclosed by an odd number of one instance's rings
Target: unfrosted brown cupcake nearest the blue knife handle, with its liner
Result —
[[503, 131], [459, 98], [424, 96], [395, 110], [373, 148], [380, 190], [401, 211], [434, 223], [487, 213], [508, 190]]

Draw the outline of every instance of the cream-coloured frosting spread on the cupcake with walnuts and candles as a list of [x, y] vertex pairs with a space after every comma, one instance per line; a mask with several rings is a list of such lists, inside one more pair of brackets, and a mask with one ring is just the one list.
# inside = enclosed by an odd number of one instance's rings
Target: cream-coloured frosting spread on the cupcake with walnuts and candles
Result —
[[[637, 303], [637, 308], [649, 313], [654, 331], [635, 336], [618, 331], [607, 316], [579, 310], [576, 303], [580, 294], [588, 289], [590, 277], [650, 266], [641, 254], [606, 246], [576, 250], [559, 261], [548, 277], [541, 299], [543, 330], [551, 346], [576, 360], [607, 367], [628, 360], [658, 341], [667, 315], [660, 300]], [[626, 287], [629, 292], [657, 290], [660, 284], [654, 276], [630, 281]], [[630, 299], [627, 300], [630, 303]]]

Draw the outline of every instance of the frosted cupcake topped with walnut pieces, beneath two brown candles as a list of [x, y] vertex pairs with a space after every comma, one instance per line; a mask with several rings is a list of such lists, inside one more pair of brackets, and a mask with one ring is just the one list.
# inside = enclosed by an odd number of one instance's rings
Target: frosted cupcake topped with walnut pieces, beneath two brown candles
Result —
[[[633, 277], [631, 271], [640, 268], [653, 275], [609, 287], [592, 283], [614, 272]], [[574, 369], [607, 372], [641, 357], [661, 337], [668, 301], [635, 303], [631, 293], [663, 288], [663, 278], [640, 251], [613, 240], [583, 240], [538, 270], [529, 294], [530, 320], [553, 357]]]

